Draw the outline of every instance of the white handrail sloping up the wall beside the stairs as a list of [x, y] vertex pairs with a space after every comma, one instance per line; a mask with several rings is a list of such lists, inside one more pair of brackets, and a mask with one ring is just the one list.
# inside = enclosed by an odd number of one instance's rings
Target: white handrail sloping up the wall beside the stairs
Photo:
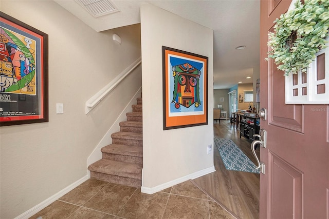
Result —
[[135, 68], [137, 68], [141, 64], [141, 57], [139, 57], [133, 64], [124, 69], [118, 76], [116, 76], [112, 82], [108, 83], [104, 88], [98, 91], [94, 96], [92, 96], [85, 104], [85, 111], [88, 114], [102, 99], [127, 76], [129, 75]]

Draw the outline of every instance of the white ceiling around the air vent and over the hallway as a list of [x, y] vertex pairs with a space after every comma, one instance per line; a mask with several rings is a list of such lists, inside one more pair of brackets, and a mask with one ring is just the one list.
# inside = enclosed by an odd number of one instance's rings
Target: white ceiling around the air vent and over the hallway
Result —
[[[74, 0], [54, 1], [96, 31], [140, 23], [140, 5], [145, 3], [213, 29], [214, 89], [231, 88], [238, 82], [252, 83], [253, 72], [259, 72], [259, 0], [115, 0], [113, 6], [119, 11], [97, 18]], [[246, 48], [235, 49], [242, 45]]]

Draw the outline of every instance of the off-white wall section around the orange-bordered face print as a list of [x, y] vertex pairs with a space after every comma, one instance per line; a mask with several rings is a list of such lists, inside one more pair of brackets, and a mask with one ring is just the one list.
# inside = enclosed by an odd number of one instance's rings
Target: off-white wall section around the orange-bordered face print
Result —
[[[213, 31], [145, 4], [141, 6], [141, 41], [142, 191], [152, 193], [213, 167], [213, 153], [207, 154], [207, 146], [213, 145]], [[209, 57], [208, 125], [162, 130], [162, 46]]]

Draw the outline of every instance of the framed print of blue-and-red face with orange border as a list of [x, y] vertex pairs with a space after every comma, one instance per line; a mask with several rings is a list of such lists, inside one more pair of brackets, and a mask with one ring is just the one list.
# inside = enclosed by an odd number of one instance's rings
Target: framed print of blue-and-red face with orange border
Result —
[[162, 46], [163, 130], [208, 124], [208, 57]]

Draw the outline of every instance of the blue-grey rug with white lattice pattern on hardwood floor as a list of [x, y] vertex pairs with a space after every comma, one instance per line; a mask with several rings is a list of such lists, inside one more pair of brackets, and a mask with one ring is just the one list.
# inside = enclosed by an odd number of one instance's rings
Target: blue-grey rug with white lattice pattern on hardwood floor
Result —
[[256, 165], [231, 139], [214, 137], [214, 141], [227, 170], [259, 173], [259, 170], [255, 169]]

